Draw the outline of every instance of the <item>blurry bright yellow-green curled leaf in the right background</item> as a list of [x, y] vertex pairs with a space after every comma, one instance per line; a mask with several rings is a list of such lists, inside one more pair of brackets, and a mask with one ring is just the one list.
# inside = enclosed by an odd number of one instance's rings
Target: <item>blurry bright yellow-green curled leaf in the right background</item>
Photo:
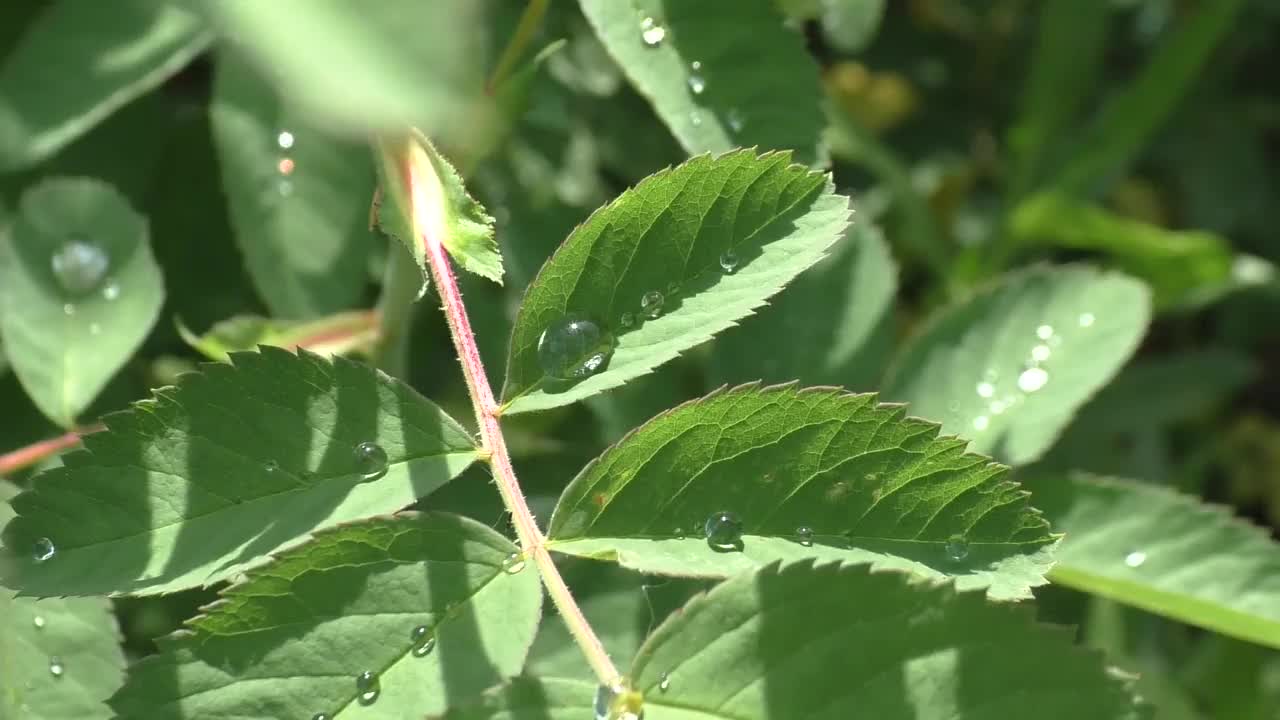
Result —
[[1216, 290], [1231, 277], [1234, 264], [1231, 245], [1219, 234], [1151, 225], [1059, 193], [1023, 201], [1010, 217], [1009, 232], [1023, 245], [1105, 252], [1152, 287], [1157, 307]]

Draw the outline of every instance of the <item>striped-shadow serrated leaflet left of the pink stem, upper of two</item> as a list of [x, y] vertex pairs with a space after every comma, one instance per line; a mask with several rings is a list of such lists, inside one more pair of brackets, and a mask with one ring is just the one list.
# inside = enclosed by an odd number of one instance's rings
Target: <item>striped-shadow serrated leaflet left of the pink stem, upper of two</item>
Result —
[[404, 507], [476, 455], [439, 407], [349, 360], [262, 347], [202, 370], [108, 415], [86, 452], [14, 500], [9, 546], [56, 548], [19, 559], [23, 594], [216, 583], [307, 533]]

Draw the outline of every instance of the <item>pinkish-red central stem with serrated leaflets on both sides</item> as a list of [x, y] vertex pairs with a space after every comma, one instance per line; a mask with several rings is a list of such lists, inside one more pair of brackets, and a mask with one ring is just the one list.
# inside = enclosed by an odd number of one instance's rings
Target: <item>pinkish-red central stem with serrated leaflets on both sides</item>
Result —
[[[412, 173], [412, 170], [410, 170]], [[419, 186], [408, 174], [412, 192], [412, 204], [416, 208], [425, 206], [425, 200], [419, 200]], [[525, 501], [525, 493], [516, 480], [516, 470], [511, 465], [511, 455], [507, 452], [507, 441], [502, 434], [502, 425], [498, 416], [500, 406], [494, 400], [493, 389], [489, 387], [484, 364], [480, 361], [480, 348], [476, 346], [475, 333], [471, 332], [471, 320], [467, 318], [466, 305], [462, 302], [462, 293], [458, 291], [457, 278], [453, 266], [444, 251], [444, 246], [438, 237], [430, 232], [422, 233], [422, 245], [426, 249], [426, 260], [431, 270], [431, 281], [440, 293], [444, 306], [444, 316], [449, 324], [449, 334], [453, 336], [453, 346], [457, 348], [458, 359], [462, 361], [462, 374], [467, 380], [467, 389], [471, 395], [471, 405], [475, 410], [476, 423], [480, 425], [480, 445], [489, 454], [489, 465], [493, 468], [493, 477], [502, 493], [503, 505], [511, 512], [512, 525], [520, 538], [520, 546], [525, 555], [538, 566], [538, 571], [547, 587], [547, 593], [559, 610], [561, 618], [568, 625], [570, 633], [577, 641], [579, 647], [586, 656], [591, 670], [595, 671], [600, 683], [612, 684], [618, 679], [618, 669], [609, 660], [604, 644], [596, 637], [595, 630], [588, 624], [582, 610], [573, 600], [564, 578], [561, 577], [556, 561], [552, 560], [547, 550], [547, 537], [534, 520], [534, 514]]]

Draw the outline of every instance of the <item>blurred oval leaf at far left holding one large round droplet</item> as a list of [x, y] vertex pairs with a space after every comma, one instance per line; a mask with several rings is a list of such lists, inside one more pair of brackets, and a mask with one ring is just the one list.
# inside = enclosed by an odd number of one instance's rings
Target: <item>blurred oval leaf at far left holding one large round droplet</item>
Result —
[[6, 352], [36, 405], [64, 427], [160, 314], [164, 286], [148, 236], [146, 218], [111, 186], [58, 178], [23, 195], [0, 237]]

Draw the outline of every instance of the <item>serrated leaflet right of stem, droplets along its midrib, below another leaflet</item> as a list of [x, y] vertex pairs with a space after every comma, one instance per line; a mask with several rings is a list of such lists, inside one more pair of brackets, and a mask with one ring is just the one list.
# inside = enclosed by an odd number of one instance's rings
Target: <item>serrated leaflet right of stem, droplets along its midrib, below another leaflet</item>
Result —
[[[1048, 569], [1048, 524], [1006, 468], [905, 414], [874, 395], [795, 386], [689, 402], [582, 469], [552, 515], [549, 547], [692, 577], [804, 557], [872, 562], [1029, 596]], [[704, 538], [722, 511], [744, 525], [736, 551]]]

